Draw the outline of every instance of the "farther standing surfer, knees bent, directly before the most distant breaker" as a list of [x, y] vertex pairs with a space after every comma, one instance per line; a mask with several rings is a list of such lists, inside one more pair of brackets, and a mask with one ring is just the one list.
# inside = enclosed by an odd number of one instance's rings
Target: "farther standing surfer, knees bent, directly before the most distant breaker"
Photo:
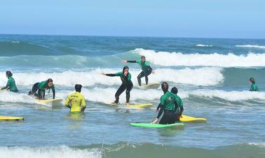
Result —
[[132, 61], [128, 61], [128, 60], [123, 60], [123, 63], [137, 63], [140, 65], [142, 72], [137, 76], [137, 80], [138, 80], [138, 85], [142, 85], [141, 84], [141, 78], [145, 77], [145, 83], [148, 85], [148, 76], [151, 73], [155, 73], [155, 71], [153, 69], [151, 69], [151, 66], [149, 64], [149, 62], [145, 61], [145, 57], [142, 56], [141, 59], [139, 60], [132, 60]]

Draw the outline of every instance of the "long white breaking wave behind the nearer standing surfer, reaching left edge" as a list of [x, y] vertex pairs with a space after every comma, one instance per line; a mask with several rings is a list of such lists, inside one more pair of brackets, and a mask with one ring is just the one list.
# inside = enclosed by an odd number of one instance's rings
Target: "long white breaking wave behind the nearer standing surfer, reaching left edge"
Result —
[[[48, 78], [53, 78], [55, 85], [73, 86], [79, 83], [83, 86], [96, 85], [121, 85], [118, 77], [102, 76], [101, 72], [116, 73], [121, 69], [93, 69], [88, 71], [62, 71], [62, 72], [13, 72], [13, 78], [18, 86], [33, 85], [35, 82], [41, 82]], [[220, 68], [200, 68], [200, 69], [156, 69], [155, 74], [149, 76], [149, 82], [176, 82], [189, 85], [217, 85], [222, 82], [224, 76]], [[132, 82], [137, 85], [137, 76], [139, 70], [130, 70], [132, 74]], [[142, 78], [144, 82], [144, 78]], [[5, 73], [0, 74], [0, 85], [6, 85]], [[19, 87], [18, 87], [19, 88]]]

